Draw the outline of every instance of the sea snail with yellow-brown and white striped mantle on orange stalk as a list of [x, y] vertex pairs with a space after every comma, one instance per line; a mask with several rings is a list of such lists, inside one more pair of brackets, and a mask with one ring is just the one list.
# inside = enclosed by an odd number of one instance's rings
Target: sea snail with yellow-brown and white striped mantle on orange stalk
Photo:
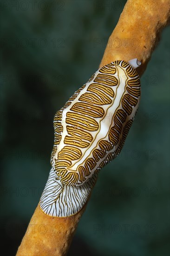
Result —
[[54, 116], [52, 168], [40, 199], [46, 215], [76, 214], [98, 171], [120, 153], [140, 101], [140, 64], [133, 59], [101, 67]]

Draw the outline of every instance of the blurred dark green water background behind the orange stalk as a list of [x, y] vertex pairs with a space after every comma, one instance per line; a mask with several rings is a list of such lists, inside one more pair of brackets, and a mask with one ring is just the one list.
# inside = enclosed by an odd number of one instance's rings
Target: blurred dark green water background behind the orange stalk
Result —
[[[98, 69], [124, 3], [0, 2], [1, 255], [15, 254], [45, 186], [53, 116]], [[169, 47], [166, 27], [125, 146], [101, 170], [69, 256], [170, 253]]]

